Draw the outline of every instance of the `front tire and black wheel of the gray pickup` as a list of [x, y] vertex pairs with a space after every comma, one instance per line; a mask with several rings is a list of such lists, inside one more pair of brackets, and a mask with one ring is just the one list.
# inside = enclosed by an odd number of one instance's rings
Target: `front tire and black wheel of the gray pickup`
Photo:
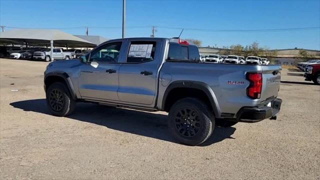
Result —
[[75, 100], [72, 99], [66, 85], [62, 82], [52, 83], [45, 95], [46, 104], [55, 116], [69, 115], [75, 109]]

